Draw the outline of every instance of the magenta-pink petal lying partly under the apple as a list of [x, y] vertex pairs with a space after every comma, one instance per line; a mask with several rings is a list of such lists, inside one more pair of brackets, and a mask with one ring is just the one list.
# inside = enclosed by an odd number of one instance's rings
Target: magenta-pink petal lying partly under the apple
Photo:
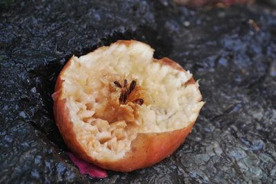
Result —
[[75, 154], [72, 154], [71, 152], [67, 152], [68, 156], [72, 160], [77, 167], [79, 167], [79, 171], [81, 174], [89, 174], [89, 176], [94, 178], [105, 178], [108, 176], [106, 173], [106, 170], [103, 170], [101, 167], [98, 167], [97, 165], [94, 165], [92, 163], [88, 163], [86, 161], [83, 161], [79, 159]]

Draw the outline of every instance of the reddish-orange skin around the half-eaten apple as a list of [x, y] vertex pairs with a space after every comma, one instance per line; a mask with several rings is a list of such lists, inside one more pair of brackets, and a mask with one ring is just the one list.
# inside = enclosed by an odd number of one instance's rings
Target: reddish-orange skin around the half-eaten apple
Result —
[[[119, 44], [130, 44], [132, 41], [117, 41]], [[154, 59], [154, 62], [160, 62], [163, 65], [170, 65], [170, 67], [177, 70], [183, 70], [178, 63], [168, 58]], [[169, 132], [151, 132], [138, 133], [137, 137], [131, 143], [130, 151], [119, 160], [101, 160], [89, 156], [88, 152], [79, 144], [76, 134], [72, 128], [72, 121], [70, 121], [70, 113], [66, 105], [66, 99], [61, 99], [63, 93], [63, 81], [61, 76], [66, 72], [66, 68], [71, 64], [72, 58], [66, 63], [63, 70], [61, 70], [57, 83], [55, 86], [55, 93], [52, 94], [54, 99], [54, 114], [57, 127], [61, 132], [63, 140], [66, 142], [72, 152], [77, 154], [81, 159], [94, 163], [106, 170], [114, 170], [119, 172], [130, 172], [133, 170], [149, 167], [162, 159], [170, 156], [172, 152], [177, 150], [177, 147], [184, 143], [186, 136], [192, 131], [195, 122], [191, 122], [186, 127], [179, 130]], [[190, 79], [185, 85], [195, 83], [194, 79]], [[201, 101], [201, 99], [199, 100]]]

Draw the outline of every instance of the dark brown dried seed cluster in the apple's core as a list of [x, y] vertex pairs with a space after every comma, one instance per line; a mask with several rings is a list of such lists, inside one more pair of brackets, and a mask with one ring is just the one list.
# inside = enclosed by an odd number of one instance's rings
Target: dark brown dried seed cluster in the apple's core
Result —
[[[121, 94], [119, 96], [119, 102], [126, 104], [126, 101], [128, 100], [129, 94], [135, 89], [136, 86], [136, 81], [131, 81], [130, 87], [128, 87], [128, 80], [124, 79], [123, 87], [118, 81], [114, 81], [114, 84], [116, 85], [117, 88], [126, 88], [121, 90]], [[132, 103], [137, 103], [139, 105], [142, 105], [144, 103], [143, 99], [136, 99], [135, 101], [132, 101]]]

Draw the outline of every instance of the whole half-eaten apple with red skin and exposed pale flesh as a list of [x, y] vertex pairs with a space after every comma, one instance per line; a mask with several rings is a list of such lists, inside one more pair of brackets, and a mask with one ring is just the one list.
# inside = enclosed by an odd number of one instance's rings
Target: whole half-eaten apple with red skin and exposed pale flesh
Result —
[[81, 159], [129, 172], [174, 152], [204, 105], [190, 72], [139, 41], [117, 41], [73, 56], [55, 87], [64, 141]]

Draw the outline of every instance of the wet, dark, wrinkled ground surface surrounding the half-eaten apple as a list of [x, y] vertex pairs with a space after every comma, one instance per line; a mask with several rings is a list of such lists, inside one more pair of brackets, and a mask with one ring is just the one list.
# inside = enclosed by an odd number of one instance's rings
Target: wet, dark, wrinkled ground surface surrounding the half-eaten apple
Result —
[[[275, 10], [100, 0], [15, 2], [0, 12], [0, 183], [276, 183]], [[149, 43], [155, 57], [193, 72], [206, 105], [168, 159], [99, 180], [66, 155], [50, 94], [72, 54], [117, 39]]]

